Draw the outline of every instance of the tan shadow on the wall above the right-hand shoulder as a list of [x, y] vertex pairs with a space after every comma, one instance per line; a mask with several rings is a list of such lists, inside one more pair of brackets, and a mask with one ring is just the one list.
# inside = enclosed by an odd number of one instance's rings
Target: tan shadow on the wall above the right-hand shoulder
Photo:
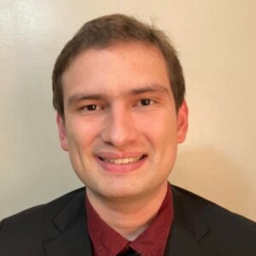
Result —
[[214, 148], [180, 150], [169, 180], [247, 218], [256, 216], [253, 182]]

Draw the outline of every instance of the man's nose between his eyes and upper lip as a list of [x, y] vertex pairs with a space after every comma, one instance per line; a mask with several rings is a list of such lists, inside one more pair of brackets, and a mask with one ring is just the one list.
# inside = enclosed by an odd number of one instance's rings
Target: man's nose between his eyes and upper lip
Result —
[[102, 140], [115, 148], [124, 148], [137, 139], [135, 118], [125, 106], [110, 108], [103, 126]]

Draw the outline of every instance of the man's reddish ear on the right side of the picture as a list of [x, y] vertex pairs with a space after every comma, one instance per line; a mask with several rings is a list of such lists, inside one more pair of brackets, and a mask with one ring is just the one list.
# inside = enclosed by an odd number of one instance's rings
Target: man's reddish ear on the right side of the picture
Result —
[[187, 102], [183, 100], [181, 107], [177, 112], [177, 143], [183, 143], [189, 128], [189, 109]]

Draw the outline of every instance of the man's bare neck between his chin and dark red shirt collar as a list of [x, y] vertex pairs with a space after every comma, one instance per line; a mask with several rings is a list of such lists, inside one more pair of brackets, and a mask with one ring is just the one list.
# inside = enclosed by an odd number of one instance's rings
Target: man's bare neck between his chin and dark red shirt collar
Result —
[[141, 235], [152, 222], [165, 199], [167, 183], [137, 199], [109, 200], [86, 189], [88, 200], [102, 220], [129, 241]]

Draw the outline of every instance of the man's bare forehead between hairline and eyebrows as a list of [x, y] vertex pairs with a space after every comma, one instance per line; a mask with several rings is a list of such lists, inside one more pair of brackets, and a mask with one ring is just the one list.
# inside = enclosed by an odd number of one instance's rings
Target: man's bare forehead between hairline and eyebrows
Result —
[[64, 101], [67, 96], [87, 91], [117, 94], [152, 84], [171, 90], [160, 50], [138, 42], [84, 50], [67, 68], [62, 81]]

